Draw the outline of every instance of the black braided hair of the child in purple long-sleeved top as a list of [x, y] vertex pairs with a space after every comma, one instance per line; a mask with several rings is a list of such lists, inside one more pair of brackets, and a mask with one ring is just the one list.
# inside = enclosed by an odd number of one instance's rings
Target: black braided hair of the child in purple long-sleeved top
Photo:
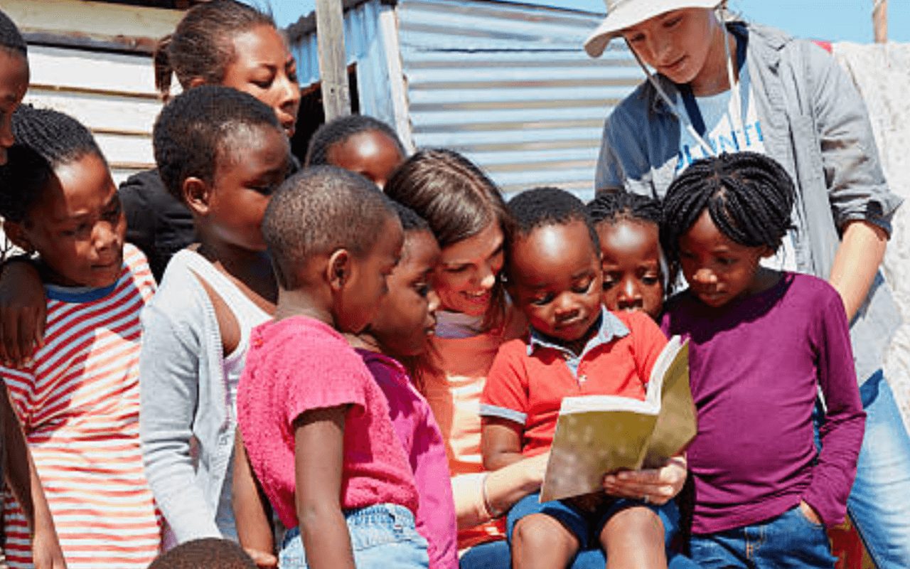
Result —
[[762, 154], [738, 152], [693, 162], [663, 198], [663, 249], [678, 260], [682, 234], [707, 209], [728, 239], [776, 251], [793, 227], [795, 191], [784, 167]]

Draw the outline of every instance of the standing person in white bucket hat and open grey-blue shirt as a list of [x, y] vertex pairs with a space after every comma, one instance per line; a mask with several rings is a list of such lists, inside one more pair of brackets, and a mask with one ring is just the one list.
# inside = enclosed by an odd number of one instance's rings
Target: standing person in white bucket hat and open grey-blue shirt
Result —
[[[762, 152], [784, 165], [797, 187], [794, 230], [772, 262], [827, 279], [851, 322], [867, 419], [848, 510], [880, 569], [910, 567], [910, 438], [881, 369], [899, 316], [878, 270], [901, 199], [885, 183], [862, 99], [824, 50], [760, 25], [722, 23], [717, 0], [606, 5], [585, 49], [600, 56], [622, 37], [648, 80], [606, 121], [596, 188], [662, 198], [693, 160], [722, 152]], [[690, 462], [696, 487], [699, 466]], [[812, 504], [802, 508], [817, 517]], [[714, 563], [755, 566], [760, 549], [739, 540]], [[707, 557], [719, 550], [712, 535], [693, 536], [694, 561], [715, 566]]]

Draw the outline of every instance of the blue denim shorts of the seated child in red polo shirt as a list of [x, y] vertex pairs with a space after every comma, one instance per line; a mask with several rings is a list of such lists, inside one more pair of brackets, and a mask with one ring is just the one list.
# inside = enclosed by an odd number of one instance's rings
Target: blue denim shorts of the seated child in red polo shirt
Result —
[[676, 510], [676, 504], [672, 501], [663, 506], [658, 506], [645, 504], [638, 500], [612, 498], [602, 508], [590, 513], [583, 512], [571, 505], [571, 503], [561, 500], [541, 503], [540, 495], [540, 493], [529, 494], [512, 506], [509, 511], [509, 517], [506, 519], [506, 535], [510, 542], [515, 524], [521, 518], [531, 515], [531, 513], [544, 513], [555, 518], [578, 538], [581, 550], [599, 548], [603, 526], [606, 525], [613, 514], [632, 506], [644, 506], [657, 513], [663, 523], [666, 544], [670, 543], [679, 527], [679, 513]]

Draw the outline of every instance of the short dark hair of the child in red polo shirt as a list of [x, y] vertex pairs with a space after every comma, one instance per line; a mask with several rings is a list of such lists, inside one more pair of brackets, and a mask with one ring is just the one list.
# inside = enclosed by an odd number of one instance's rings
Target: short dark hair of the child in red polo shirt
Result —
[[534, 229], [581, 221], [588, 229], [594, 250], [601, 250], [600, 239], [584, 202], [564, 189], [549, 186], [531, 188], [511, 198], [508, 207], [512, 218], [510, 247]]

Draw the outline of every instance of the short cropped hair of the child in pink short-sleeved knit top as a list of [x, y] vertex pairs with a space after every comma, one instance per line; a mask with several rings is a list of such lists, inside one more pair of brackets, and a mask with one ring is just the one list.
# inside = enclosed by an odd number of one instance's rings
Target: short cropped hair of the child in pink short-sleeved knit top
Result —
[[262, 235], [278, 284], [298, 289], [298, 269], [335, 249], [364, 255], [396, 211], [369, 179], [334, 166], [304, 168], [272, 196]]

